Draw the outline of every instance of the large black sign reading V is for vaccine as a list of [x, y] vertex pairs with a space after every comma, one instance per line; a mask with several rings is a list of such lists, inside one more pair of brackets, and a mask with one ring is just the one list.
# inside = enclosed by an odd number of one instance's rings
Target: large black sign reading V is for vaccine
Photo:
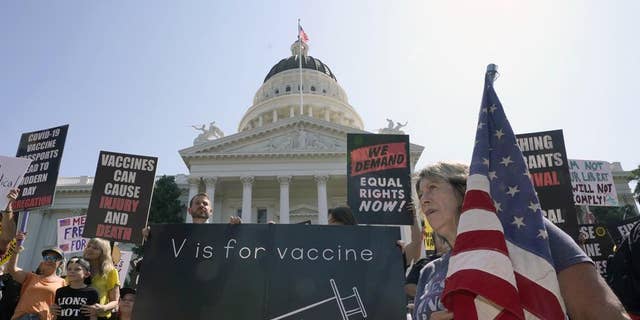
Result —
[[404, 319], [395, 227], [151, 226], [135, 319]]

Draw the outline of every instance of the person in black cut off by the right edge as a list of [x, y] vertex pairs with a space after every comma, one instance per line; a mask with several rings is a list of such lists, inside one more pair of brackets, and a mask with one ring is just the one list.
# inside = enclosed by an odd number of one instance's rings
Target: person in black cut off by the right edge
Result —
[[640, 320], [640, 222], [607, 263], [607, 283], [634, 320]]

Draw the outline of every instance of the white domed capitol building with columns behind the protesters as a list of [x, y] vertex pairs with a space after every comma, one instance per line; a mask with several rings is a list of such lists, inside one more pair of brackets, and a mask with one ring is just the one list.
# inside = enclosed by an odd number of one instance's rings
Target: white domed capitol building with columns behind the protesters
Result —
[[[347, 134], [372, 132], [331, 68], [308, 51], [296, 41], [269, 70], [238, 132], [225, 135], [212, 122], [195, 127], [201, 133], [192, 145], [176, 146], [189, 171], [175, 175], [183, 203], [208, 193], [213, 223], [237, 215], [244, 223], [327, 224], [328, 208], [346, 205]], [[402, 124], [387, 121], [380, 133], [404, 134]], [[423, 150], [410, 145], [412, 170]], [[86, 214], [92, 184], [89, 176], [59, 177], [54, 205], [31, 211], [23, 268], [34, 270], [42, 248], [56, 244], [58, 219]], [[408, 227], [401, 229], [408, 238]]]

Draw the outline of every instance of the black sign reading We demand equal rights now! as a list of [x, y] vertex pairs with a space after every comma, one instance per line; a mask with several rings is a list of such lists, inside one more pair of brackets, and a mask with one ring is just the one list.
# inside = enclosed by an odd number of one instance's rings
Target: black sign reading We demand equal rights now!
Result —
[[347, 193], [359, 224], [412, 225], [409, 136], [347, 134]]

